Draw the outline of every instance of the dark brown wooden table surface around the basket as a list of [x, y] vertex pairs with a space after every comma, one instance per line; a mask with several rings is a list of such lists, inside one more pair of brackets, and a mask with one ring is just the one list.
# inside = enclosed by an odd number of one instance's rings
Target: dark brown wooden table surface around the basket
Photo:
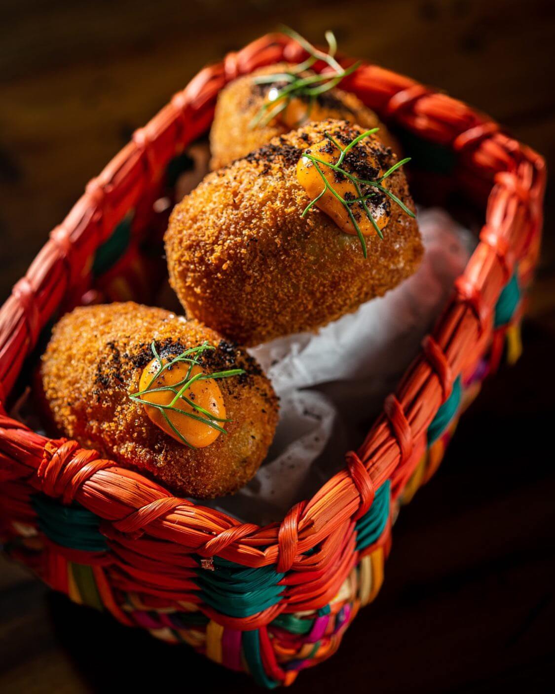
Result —
[[[5, 3], [6, 4], [6, 3]], [[2, 10], [0, 293], [83, 186], [206, 62], [282, 21], [438, 85], [555, 162], [555, 3], [24, 0]], [[554, 189], [524, 355], [403, 509], [377, 600], [291, 691], [554, 691]], [[479, 480], [479, 483], [476, 481]], [[258, 691], [0, 564], [4, 694]]]

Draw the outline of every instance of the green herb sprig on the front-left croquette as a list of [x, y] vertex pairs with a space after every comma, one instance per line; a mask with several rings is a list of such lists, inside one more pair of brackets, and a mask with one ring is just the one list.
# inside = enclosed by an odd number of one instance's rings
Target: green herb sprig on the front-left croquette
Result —
[[[137, 391], [137, 393], [133, 393], [129, 396], [130, 400], [133, 400], [134, 403], [140, 403], [141, 405], [148, 405], [148, 407], [155, 407], [156, 409], [158, 409], [164, 417], [164, 421], [167, 423], [169, 428], [171, 428], [173, 433], [176, 434], [176, 436], [179, 437], [179, 439], [183, 443], [185, 443], [185, 446], [189, 446], [189, 448], [196, 448], [196, 446], [193, 446], [191, 443], [189, 443], [189, 441], [187, 441], [187, 439], [185, 439], [185, 437], [178, 431], [176, 426], [173, 425], [173, 422], [170, 420], [167, 413], [178, 412], [179, 414], [184, 414], [187, 417], [191, 417], [191, 419], [196, 419], [197, 421], [205, 423], [207, 426], [218, 430], [222, 434], [227, 434], [225, 429], [216, 422], [230, 422], [232, 420], [222, 419], [220, 417], [214, 416], [211, 412], [208, 412], [207, 409], [204, 409], [204, 407], [196, 405], [196, 403], [194, 403], [193, 400], [187, 397], [186, 393], [191, 387], [191, 385], [194, 384], [194, 382], [196, 381], [204, 381], [218, 378], [230, 378], [231, 376], [240, 376], [241, 374], [245, 373], [244, 369], [228, 369], [228, 371], [216, 371], [214, 373], [197, 373], [196, 375], [191, 376], [191, 372], [194, 366], [202, 366], [198, 357], [203, 355], [203, 353], [206, 350], [214, 349], [216, 348], [213, 345], [208, 344], [207, 342], [203, 342], [203, 344], [199, 345], [198, 347], [191, 347], [190, 349], [185, 350], [185, 352], [182, 352], [180, 355], [174, 357], [173, 359], [170, 359], [166, 364], [164, 364], [162, 362], [162, 358], [157, 353], [156, 345], [153, 341], [153, 343], [151, 344], [151, 350], [155, 359], [157, 359], [158, 364], [160, 364], [160, 369], [158, 369], [155, 375], [153, 375], [151, 381], [148, 383], [148, 386], [144, 390]], [[167, 369], [171, 369], [171, 367], [174, 364], [178, 364], [180, 362], [185, 362], [186, 364], [189, 364], [189, 368], [187, 369], [187, 375], [185, 376], [185, 378], [180, 380], [180, 382], [178, 383], [173, 383], [168, 386], [161, 386], [158, 388], [152, 387], [153, 383], [157, 380], [157, 378], [160, 377], [160, 375], [164, 371], [167, 371]], [[151, 403], [149, 400], [143, 399], [143, 396], [147, 393], [160, 393], [161, 391], [173, 393], [173, 398], [169, 405], [159, 405], [157, 403]], [[187, 410], [178, 407], [180, 401], [187, 403], [187, 405], [189, 405], [189, 407], [192, 407], [194, 411], [198, 414], [188, 412]]]

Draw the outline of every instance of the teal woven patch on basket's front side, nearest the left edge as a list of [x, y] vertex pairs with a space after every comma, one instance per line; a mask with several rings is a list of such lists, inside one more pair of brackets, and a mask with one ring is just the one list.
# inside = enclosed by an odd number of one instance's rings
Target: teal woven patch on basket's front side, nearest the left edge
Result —
[[31, 506], [38, 518], [38, 526], [46, 537], [62, 547], [85, 552], [103, 552], [108, 549], [99, 527], [101, 519], [76, 502], [63, 506], [43, 494], [31, 498]]

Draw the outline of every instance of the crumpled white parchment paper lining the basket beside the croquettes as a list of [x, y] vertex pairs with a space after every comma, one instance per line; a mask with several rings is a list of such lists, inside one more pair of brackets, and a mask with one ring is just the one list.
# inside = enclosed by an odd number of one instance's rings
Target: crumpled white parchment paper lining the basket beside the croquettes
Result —
[[443, 210], [419, 210], [418, 223], [424, 259], [402, 285], [317, 333], [250, 350], [280, 396], [280, 423], [253, 480], [211, 506], [251, 523], [280, 520], [341, 469], [345, 452], [364, 439], [475, 246]]

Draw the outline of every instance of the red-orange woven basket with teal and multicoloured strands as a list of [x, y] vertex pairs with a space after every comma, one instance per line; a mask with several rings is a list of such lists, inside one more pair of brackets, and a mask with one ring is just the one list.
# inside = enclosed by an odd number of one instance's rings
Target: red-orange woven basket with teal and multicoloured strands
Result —
[[[148, 289], [164, 271], [153, 257], [184, 151], [206, 133], [225, 83], [304, 58], [289, 38], [268, 35], [203, 69], [87, 185], [0, 311], [5, 407], [29, 382], [62, 312], [87, 301], [153, 300]], [[0, 412], [8, 554], [71, 600], [185, 641], [270, 687], [329, 657], [375, 597], [400, 504], [436, 470], [484, 376], [503, 353], [518, 355], [522, 296], [540, 244], [540, 156], [460, 101], [382, 68], [364, 65], [345, 89], [402, 139], [417, 197], [433, 191], [435, 203], [456, 196], [479, 205], [484, 226], [397, 392], [314, 498], [281, 523], [242, 524]]]

